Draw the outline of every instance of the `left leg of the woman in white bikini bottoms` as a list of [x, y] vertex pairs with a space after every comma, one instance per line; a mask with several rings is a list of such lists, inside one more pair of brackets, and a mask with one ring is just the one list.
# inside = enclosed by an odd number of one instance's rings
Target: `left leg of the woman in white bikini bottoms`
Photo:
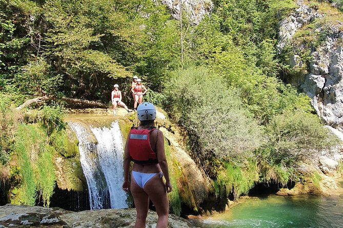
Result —
[[149, 210], [149, 197], [147, 193], [145, 193], [144, 190], [136, 184], [132, 174], [130, 191], [133, 196], [133, 201], [137, 212], [135, 228], [145, 228]]

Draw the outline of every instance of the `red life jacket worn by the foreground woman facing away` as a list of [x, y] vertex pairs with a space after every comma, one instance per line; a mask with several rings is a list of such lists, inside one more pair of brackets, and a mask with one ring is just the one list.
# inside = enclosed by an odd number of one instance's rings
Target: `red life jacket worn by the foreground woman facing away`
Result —
[[157, 164], [157, 154], [150, 145], [150, 131], [152, 129], [138, 130], [136, 127], [130, 130], [129, 154], [131, 161], [138, 164]]

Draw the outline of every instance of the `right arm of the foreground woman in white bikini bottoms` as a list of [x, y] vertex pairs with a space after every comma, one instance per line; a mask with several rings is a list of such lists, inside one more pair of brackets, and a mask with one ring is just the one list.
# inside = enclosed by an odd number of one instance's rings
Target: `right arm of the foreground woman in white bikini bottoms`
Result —
[[165, 154], [165, 138], [163, 136], [162, 131], [157, 130], [157, 143], [156, 143], [156, 154], [157, 154], [157, 159], [158, 159], [158, 164], [162, 169], [163, 174], [165, 175], [166, 178], [166, 190], [167, 192], [171, 192], [173, 187], [170, 184], [170, 179], [169, 179], [169, 171], [168, 171], [168, 163], [167, 163], [167, 158]]

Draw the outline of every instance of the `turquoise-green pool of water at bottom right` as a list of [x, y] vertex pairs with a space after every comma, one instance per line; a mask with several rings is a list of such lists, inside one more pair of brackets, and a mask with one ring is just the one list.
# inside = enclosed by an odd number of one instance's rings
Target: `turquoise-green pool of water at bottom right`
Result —
[[[343, 186], [343, 183], [341, 183]], [[343, 194], [246, 199], [205, 220], [208, 227], [343, 227]]]

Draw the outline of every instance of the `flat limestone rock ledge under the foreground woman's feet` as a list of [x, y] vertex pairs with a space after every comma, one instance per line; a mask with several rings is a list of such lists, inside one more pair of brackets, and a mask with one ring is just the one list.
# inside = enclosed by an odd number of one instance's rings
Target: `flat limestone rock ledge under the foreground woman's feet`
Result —
[[[0, 228], [7, 227], [134, 227], [135, 209], [104, 209], [70, 212], [60, 208], [43, 208], [6, 204], [0, 207]], [[156, 227], [157, 214], [149, 211], [147, 226]], [[168, 228], [196, 227], [186, 219], [169, 215]]]

